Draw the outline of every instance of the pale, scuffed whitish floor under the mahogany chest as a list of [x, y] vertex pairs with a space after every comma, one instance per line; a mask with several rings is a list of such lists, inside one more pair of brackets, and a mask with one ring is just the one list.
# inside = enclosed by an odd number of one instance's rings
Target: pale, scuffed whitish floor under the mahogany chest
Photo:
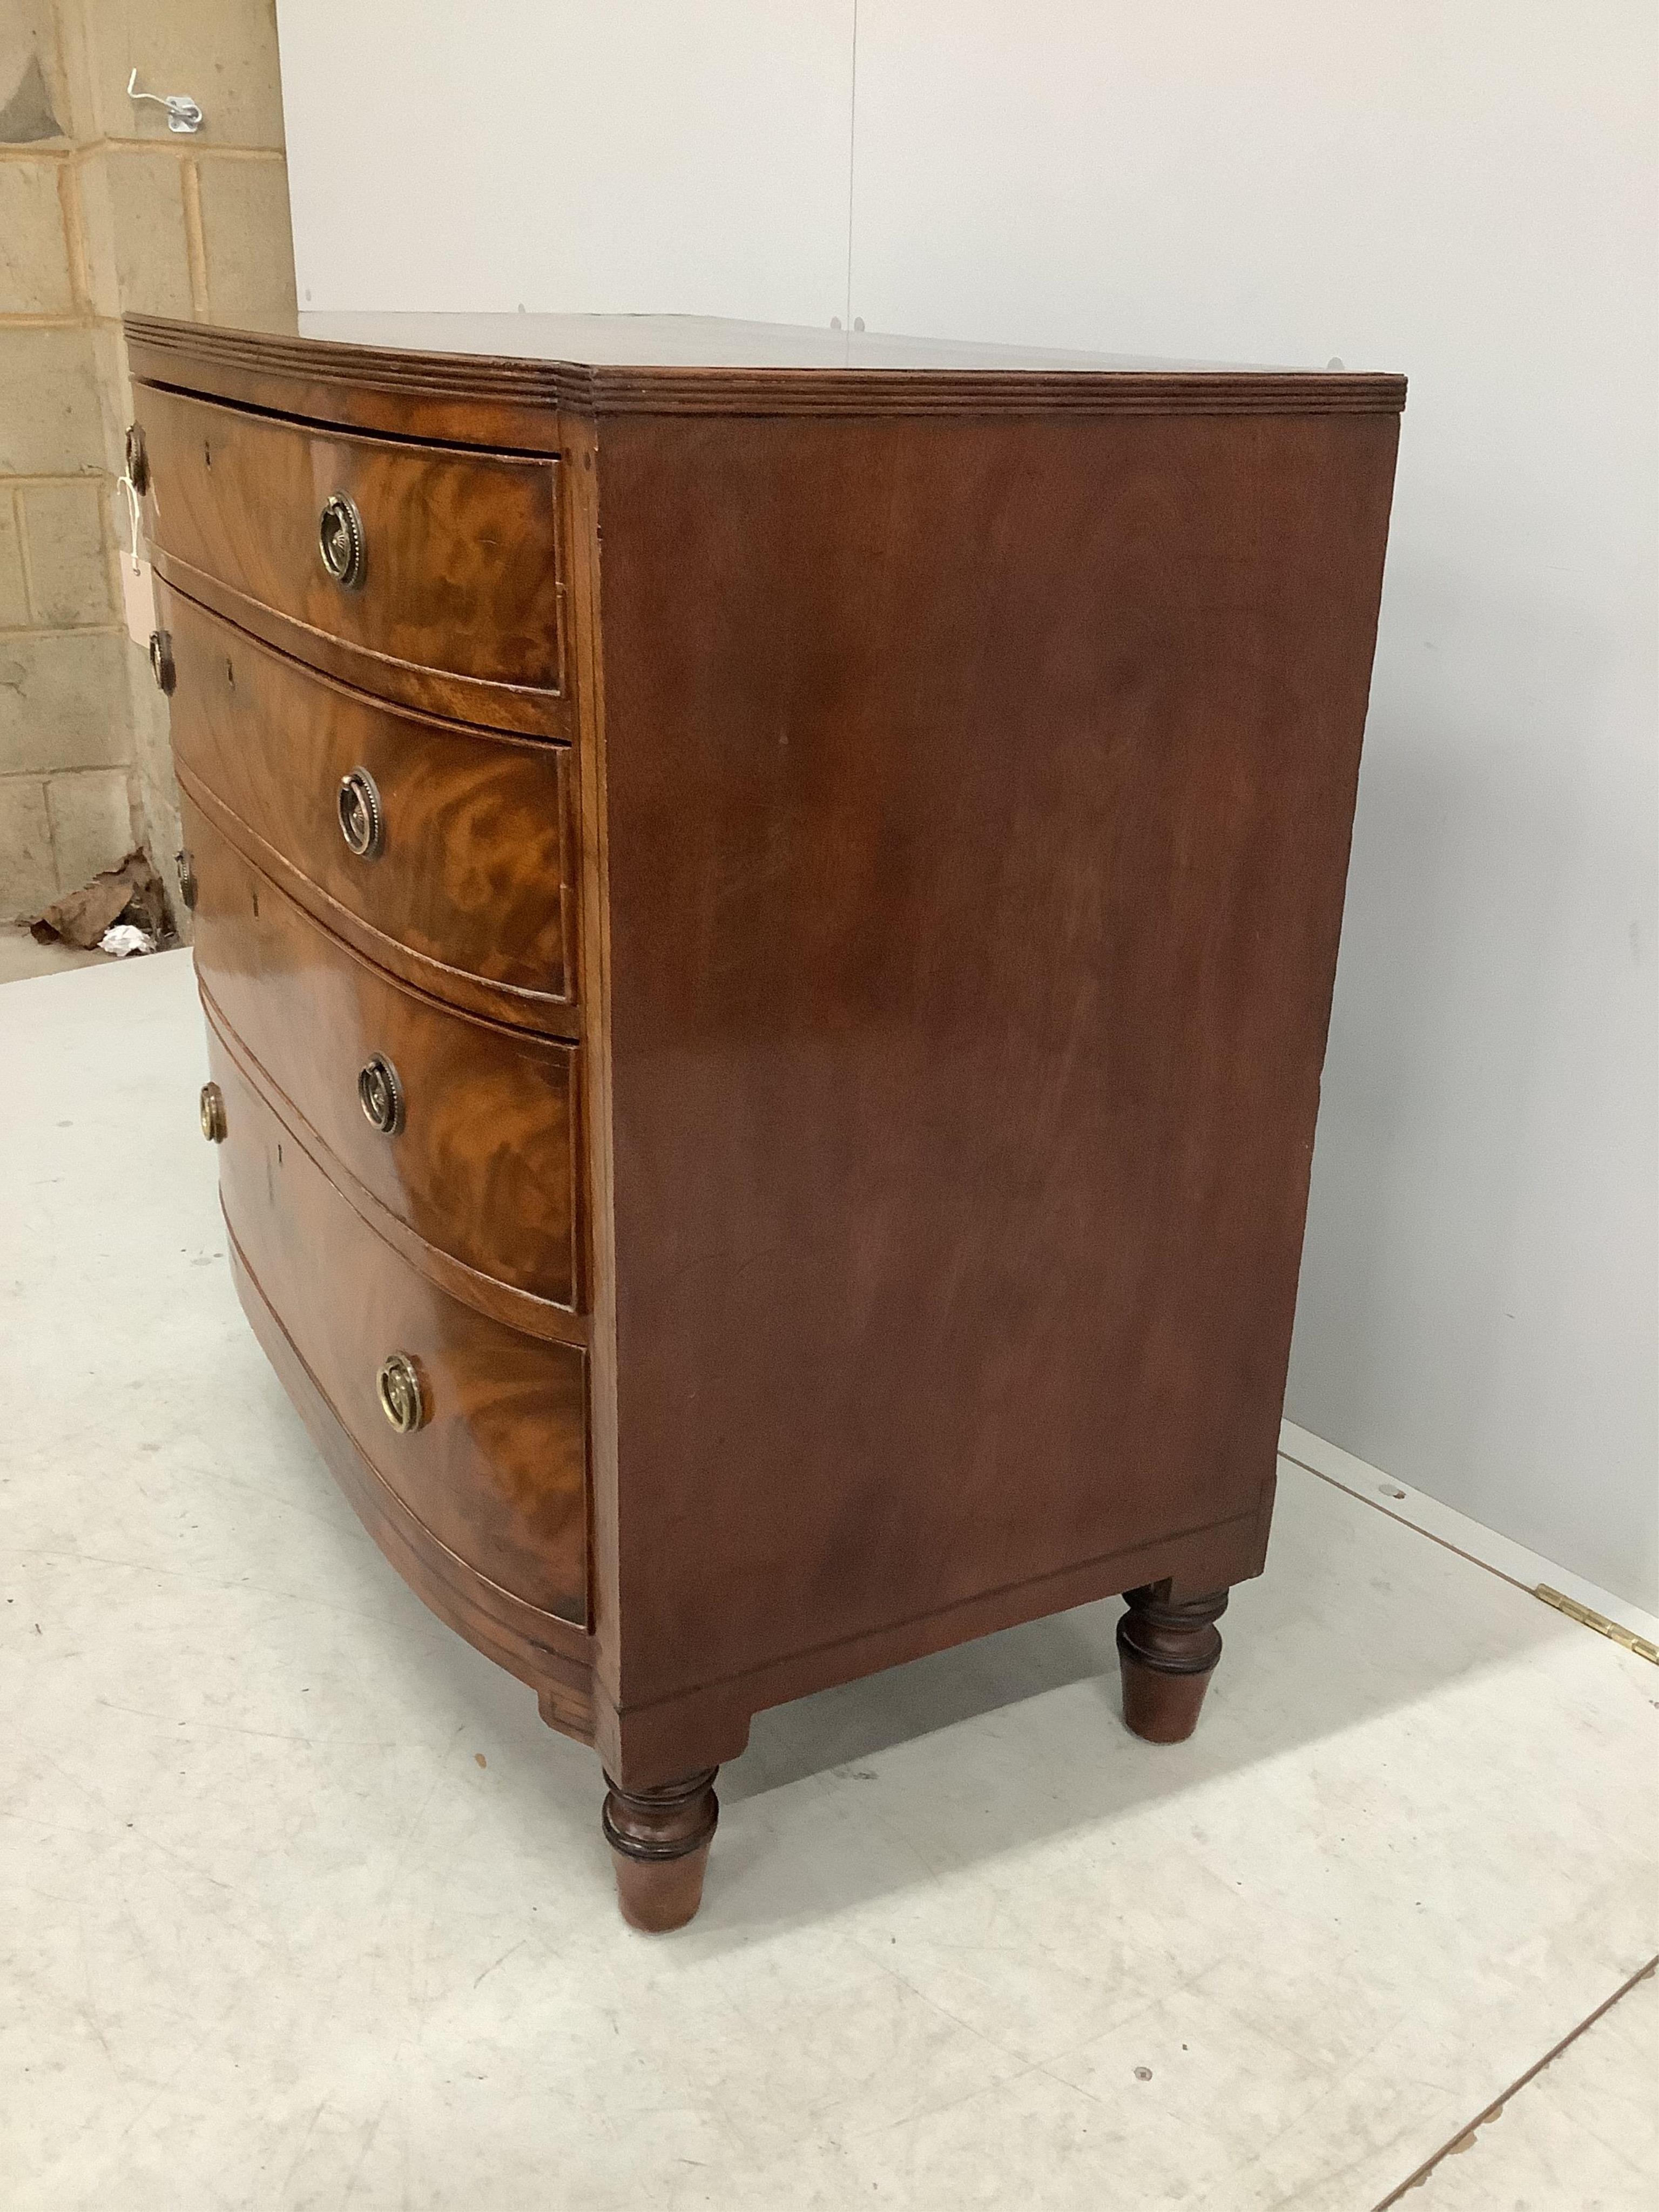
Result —
[[0, 1064], [0, 2203], [1659, 2203], [1652, 1978], [1473, 2126], [1659, 1951], [1659, 1670], [1285, 1464], [1190, 1745], [1117, 1606], [807, 1699], [633, 1936], [237, 1312], [188, 956]]

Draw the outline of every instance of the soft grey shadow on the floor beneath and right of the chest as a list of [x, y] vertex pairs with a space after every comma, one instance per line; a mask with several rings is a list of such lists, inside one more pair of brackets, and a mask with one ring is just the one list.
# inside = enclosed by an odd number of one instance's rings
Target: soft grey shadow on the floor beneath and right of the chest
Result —
[[[1079, 1606], [757, 1714], [750, 1750], [721, 1772], [721, 1796], [728, 1807], [759, 1809], [812, 1776], [894, 1781], [911, 1770], [916, 1792], [927, 1792], [949, 1761], [947, 1851], [956, 1863], [989, 1858], [1265, 1765], [1584, 1632], [1500, 1575], [1287, 1462], [1267, 1573], [1232, 1595], [1223, 1659], [1190, 1743], [1150, 1747], [1124, 1728], [1119, 1613], [1119, 1599]], [[1086, 1701], [1068, 1699], [1057, 1714], [1033, 1705], [1013, 1728], [964, 1728], [949, 1752], [925, 1750], [960, 1723], [1084, 1683]], [[885, 1807], [891, 1812], [891, 1794]], [[909, 1812], [920, 1832], [927, 1807]], [[741, 1858], [754, 1867], [768, 1849], [761, 1834]], [[779, 1918], [779, 1885], [757, 1882], [745, 1898], [743, 1865], [732, 1858], [719, 1918], [752, 1933]], [[896, 1880], [905, 1876], [891, 1860], [872, 1854], [858, 1893]], [[801, 1902], [814, 1909], [812, 1898]]]

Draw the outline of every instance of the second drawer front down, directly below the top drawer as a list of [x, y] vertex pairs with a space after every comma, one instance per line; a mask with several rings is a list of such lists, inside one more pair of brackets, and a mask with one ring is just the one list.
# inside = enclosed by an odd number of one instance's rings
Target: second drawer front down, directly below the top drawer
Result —
[[[361, 949], [429, 991], [480, 978], [524, 993], [495, 1011], [557, 1024], [575, 967], [568, 748], [376, 706], [166, 584], [157, 611], [173, 639], [179, 770], [303, 878], [294, 896], [352, 933], [343, 909]], [[341, 785], [363, 776], [380, 816], [369, 854], [341, 827]]]

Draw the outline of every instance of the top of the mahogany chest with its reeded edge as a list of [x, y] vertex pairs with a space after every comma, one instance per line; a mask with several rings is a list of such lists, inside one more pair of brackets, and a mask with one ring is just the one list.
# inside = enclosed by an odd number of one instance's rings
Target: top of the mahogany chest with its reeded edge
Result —
[[[509, 407], [571, 409], [615, 416], [947, 416], [947, 414], [1398, 414], [1405, 378], [1343, 369], [1248, 369], [1188, 363], [1135, 363], [1088, 354], [1042, 354], [1020, 347], [956, 347], [940, 341], [852, 338], [792, 325], [714, 325], [695, 316], [361, 316], [312, 319], [330, 325], [431, 341], [434, 325], [456, 336], [509, 325], [557, 325], [566, 343], [591, 338], [588, 352], [633, 352], [646, 358], [564, 358], [524, 349], [460, 352], [431, 343], [369, 345], [325, 336], [221, 330], [161, 316], [126, 316], [128, 343], [148, 358], [139, 376], [166, 374], [192, 383], [192, 367], [239, 376], [299, 378], [307, 385], [374, 389], [427, 403], [487, 400]], [[619, 325], [628, 325], [622, 330]], [[672, 325], [672, 327], [670, 327]], [[681, 327], [684, 325], [684, 327]], [[703, 332], [721, 343], [699, 343]], [[745, 334], [761, 334], [754, 343]], [[818, 341], [832, 341], [827, 347]], [[701, 361], [699, 352], [745, 352], [745, 363]], [[816, 358], [841, 352], [836, 365]], [[692, 358], [650, 358], [681, 354]], [[803, 358], [796, 358], [803, 356]], [[909, 365], [911, 356], [916, 365]], [[898, 363], [898, 365], [896, 365]], [[1024, 365], [1031, 363], [1031, 365]], [[166, 380], [173, 380], [170, 376]]]

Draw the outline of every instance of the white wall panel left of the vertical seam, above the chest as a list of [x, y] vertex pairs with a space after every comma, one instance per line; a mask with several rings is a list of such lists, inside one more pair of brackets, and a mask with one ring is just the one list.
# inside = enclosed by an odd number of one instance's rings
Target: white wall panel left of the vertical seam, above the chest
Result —
[[301, 307], [845, 305], [852, 0], [279, 0], [276, 24]]

